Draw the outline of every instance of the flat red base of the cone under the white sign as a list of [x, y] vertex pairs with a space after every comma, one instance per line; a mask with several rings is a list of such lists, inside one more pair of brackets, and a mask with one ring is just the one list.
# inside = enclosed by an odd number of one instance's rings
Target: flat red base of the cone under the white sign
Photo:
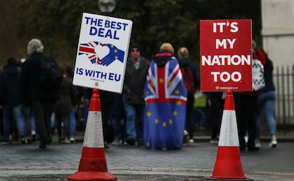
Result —
[[102, 181], [102, 180], [117, 180], [117, 178], [111, 173], [78, 171], [70, 175], [70, 177], [67, 177], [67, 180]]

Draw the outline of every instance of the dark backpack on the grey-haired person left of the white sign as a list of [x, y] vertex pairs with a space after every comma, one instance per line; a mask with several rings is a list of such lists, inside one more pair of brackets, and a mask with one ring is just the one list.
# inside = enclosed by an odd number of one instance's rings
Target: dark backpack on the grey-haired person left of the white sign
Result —
[[62, 69], [50, 56], [43, 55], [40, 58], [40, 87], [46, 92], [59, 91], [63, 78]]

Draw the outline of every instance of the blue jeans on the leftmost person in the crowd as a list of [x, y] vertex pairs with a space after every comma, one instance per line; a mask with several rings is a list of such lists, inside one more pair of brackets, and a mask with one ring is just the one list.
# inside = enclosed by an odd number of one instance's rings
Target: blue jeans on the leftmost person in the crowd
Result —
[[25, 122], [23, 119], [22, 105], [3, 105], [3, 131], [4, 140], [9, 141], [10, 127], [13, 116], [18, 129], [18, 136], [25, 136]]

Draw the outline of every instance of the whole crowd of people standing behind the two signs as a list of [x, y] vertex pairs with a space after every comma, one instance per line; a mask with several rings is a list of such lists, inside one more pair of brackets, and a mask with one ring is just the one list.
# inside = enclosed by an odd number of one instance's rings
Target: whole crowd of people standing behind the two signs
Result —
[[[270, 146], [277, 146], [273, 62], [255, 42], [252, 50], [253, 59], [263, 64], [266, 86], [234, 92], [240, 151], [258, 151], [261, 147], [263, 109], [272, 136]], [[104, 147], [128, 144], [165, 150], [194, 144], [193, 113], [200, 77], [189, 58], [189, 50], [180, 47], [175, 54], [173, 45], [164, 42], [151, 60], [141, 52], [137, 43], [129, 46], [122, 93], [99, 91]], [[75, 142], [77, 119], [82, 116], [84, 128], [87, 124], [92, 88], [73, 86], [72, 67], [60, 66], [62, 78], [57, 83], [58, 89], [44, 89], [40, 79], [40, 60], [44, 56], [42, 42], [33, 39], [28, 42], [28, 58], [24, 62], [9, 57], [1, 70], [1, 144], [9, 144], [13, 139], [21, 144], [38, 140], [39, 148], [43, 149], [53, 141], [54, 134], [60, 143], [70, 144]], [[205, 92], [205, 95], [210, 143], [217, 144], [226, 93]], [[80, 105], [84, 115], [77, 115]]]

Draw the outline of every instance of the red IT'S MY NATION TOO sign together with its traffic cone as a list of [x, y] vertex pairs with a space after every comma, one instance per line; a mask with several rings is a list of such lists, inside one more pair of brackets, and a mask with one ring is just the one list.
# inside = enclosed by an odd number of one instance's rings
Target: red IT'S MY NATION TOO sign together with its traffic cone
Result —
[[251, 20], [200, 21], [201, 91], [226, 91], [212, 178], [246, 179], [233, 91], [252, 91]]

